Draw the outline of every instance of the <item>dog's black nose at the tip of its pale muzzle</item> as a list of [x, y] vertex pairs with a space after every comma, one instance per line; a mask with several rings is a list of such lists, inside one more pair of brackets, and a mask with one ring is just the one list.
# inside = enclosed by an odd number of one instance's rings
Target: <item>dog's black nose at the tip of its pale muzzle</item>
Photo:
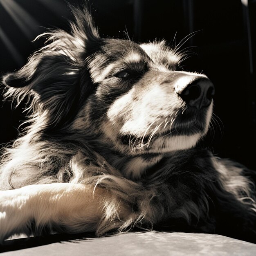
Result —
[[191, 107], [206, 108], [211, 104], [214, 86], [209, 79], [198, 78], [189, 83], [179, 95]]

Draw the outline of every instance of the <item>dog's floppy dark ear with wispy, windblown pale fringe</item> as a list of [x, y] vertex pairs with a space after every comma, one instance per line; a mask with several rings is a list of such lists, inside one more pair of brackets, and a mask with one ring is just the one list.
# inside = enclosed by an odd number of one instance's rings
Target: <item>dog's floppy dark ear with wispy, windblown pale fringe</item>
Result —
[[[86, 46], [97, 42], [99, 34], [86, 7], [72, 11], [71, 32], [55, 30], [40, 35], [47, 36], [45, 46], [32, 54], [24, 67], [2, 80], [7, 86], [6, 97], [20, 100], [32, 96], [34, 112], [40, 115], [47, 111], [48, 124], [53, 126], [66, 119], [74, 111], [74, 101], [92, 87], [84, 83], [84, 58]], [[89, 76], [86, 83], [91, 83]]]

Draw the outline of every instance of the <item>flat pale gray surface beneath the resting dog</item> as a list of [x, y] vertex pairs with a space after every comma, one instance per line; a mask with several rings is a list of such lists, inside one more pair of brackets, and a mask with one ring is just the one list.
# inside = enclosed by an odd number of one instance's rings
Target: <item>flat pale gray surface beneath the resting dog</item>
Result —
[[[93, 236], [32, 237], [4, 242], [1, 255], [256, 255], [256, 245], [233, 238], [194, 233], [137, 232]], [[5, 252], [4, 252], [5, 251]]]

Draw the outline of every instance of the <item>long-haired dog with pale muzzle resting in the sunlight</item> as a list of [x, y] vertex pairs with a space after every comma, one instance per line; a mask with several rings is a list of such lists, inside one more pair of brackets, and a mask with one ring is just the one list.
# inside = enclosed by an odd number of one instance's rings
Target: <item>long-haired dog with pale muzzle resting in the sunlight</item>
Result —
[[29, 125], [4, 149], [0, 240], [169, 230], [255, 242], [255, 173], [200, 146], [214, 86], [179, 47], [101, 38], [88, 7], [51, 30], [4, 97]]

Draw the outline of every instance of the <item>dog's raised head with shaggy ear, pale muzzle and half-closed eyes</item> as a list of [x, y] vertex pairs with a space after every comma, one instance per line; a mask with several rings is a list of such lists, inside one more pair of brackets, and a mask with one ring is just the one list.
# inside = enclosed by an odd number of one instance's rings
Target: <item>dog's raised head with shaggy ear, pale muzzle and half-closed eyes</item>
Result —
[[45, 33], [45, 47], [7, 74], [8, 95], [33, 96], [44, 128], [97, 137], [128, 155], [186, 150], [206, 135], [214, 88], [180, 68], [164, 41], [100, 38], [90, 13], [75, 9], [72, 31]]

